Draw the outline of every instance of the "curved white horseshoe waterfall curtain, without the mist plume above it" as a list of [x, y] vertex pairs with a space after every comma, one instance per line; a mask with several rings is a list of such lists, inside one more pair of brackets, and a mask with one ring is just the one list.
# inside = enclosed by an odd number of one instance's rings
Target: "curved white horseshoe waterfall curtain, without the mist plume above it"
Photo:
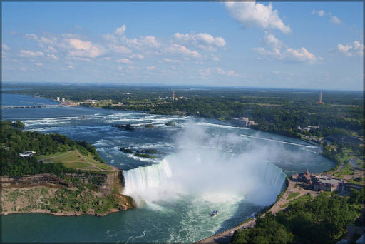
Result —
[[123, 194], [138, 205], [180, 194], [242, 195], [268, 205], [281, 192], [285, 173], [272, 163], [256, 162], [247, 155], [232, 157], [204, 150], [166, 156], [158, 164], [124, 171]]

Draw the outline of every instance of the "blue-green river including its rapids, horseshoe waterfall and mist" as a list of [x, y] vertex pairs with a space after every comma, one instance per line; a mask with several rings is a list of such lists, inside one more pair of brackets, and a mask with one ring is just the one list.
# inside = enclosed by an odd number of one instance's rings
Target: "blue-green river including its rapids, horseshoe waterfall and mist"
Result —
[[[3, 94], [2, 106], [56, 104]], [[106, 217], [2, 216], [4, 242], [192, 242], [219, 233], [274, 203], [285, 176], [333, 166], [319, 148], [295, 138], [215, 120], [101, 108], [2, 109], [26, 131], [86, 140], [106, 163], [124, 170], [124, 194], [139, 207]], [[175, 126], [165, 122], [174, 121]], [[130, 123], [135, 131], [113, 124]], [[152, 124], [153, 128], [146, 128]], [[120, 151], [157, 149], [157, 158]], [[210, 216], [217, 210], [215, 218]]]

